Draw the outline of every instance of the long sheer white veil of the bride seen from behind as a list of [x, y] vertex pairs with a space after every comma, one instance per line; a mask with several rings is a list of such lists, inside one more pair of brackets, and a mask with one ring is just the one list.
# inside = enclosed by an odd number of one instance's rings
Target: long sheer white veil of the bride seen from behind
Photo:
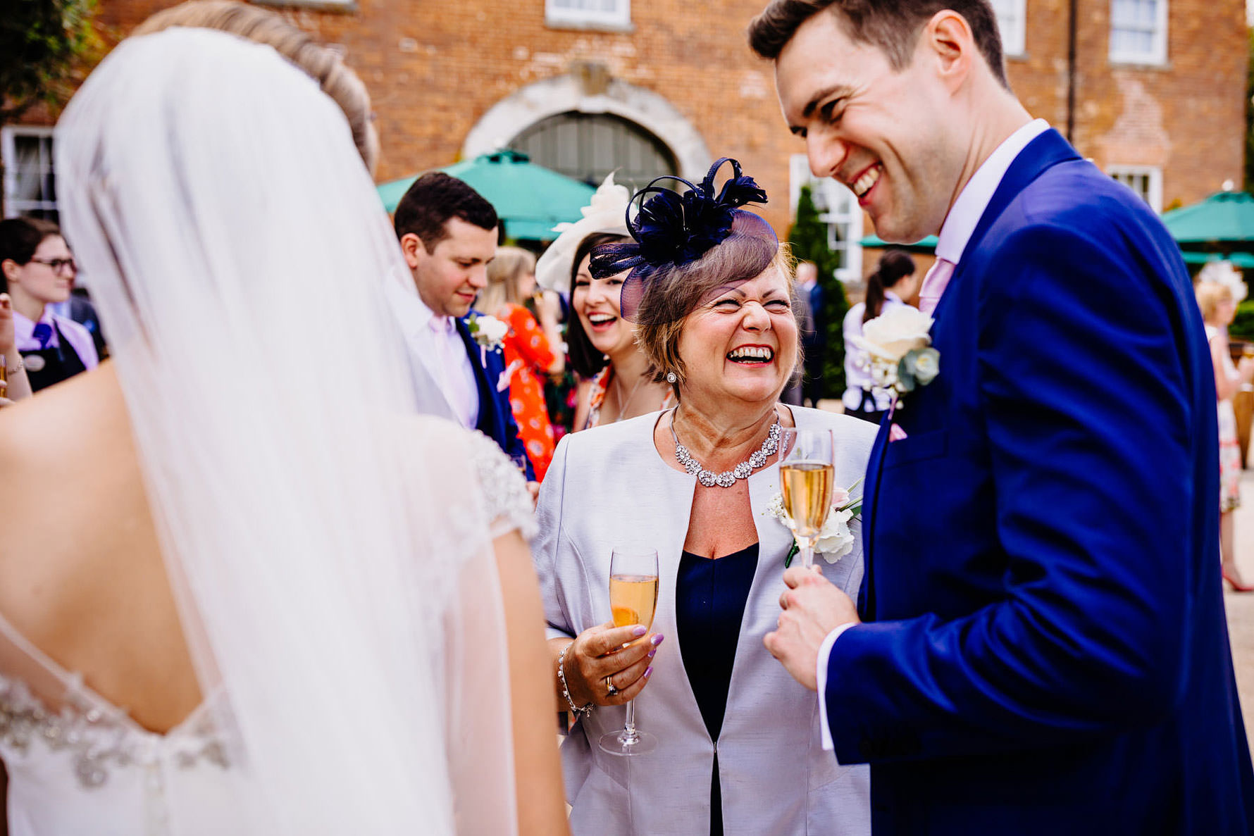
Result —
[[408, 271], [342, 113], [270, 48], [171, 29], [87, 80], [56, 172], [241, 827], [513, 832], [472, 440], [414, 415]]

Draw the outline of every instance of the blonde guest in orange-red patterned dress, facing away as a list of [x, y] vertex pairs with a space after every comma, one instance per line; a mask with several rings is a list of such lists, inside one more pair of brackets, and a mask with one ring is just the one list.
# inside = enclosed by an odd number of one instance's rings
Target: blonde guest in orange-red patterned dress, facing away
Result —
[[554, 442], [542, 376], [561, 374], [566, 362], [551, 342], [549, 335], [557, 326], [552, 311], [542, 302], [542, 315], [551, 320], [551, 327], [542, 328], [532, 312], [523, 307], [523, 300], [534, 288], [535, 256], [519, 247], [500, 247], [497, 257], [488, 263], [488, 286], [479, 295], [478, 306], [509, 326], [504, 338], [509, 406], [527, 457], [535, 469], [535, 480], [544, 481]]

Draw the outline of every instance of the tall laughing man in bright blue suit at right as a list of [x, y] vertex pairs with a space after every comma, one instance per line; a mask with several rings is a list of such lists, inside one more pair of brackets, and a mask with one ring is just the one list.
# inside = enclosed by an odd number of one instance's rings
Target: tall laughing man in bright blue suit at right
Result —
[[939, 233], [939, 375], [885, 419], [858, 605], [791, 569], [767, 649], [879, 833], [1254, 831], [1214, 372], [1179, 251], [1006, 84], [987, 0], [775, 0], [815, 174]]

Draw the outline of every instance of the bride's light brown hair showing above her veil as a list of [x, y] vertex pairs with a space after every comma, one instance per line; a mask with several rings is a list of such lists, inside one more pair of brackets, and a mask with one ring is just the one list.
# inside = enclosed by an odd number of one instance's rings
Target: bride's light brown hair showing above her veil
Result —
[[130, 35], [152, 35], [171, 26], [217, 29], [270, 46], [296, 64], [321, 85], [322, 93], [340, 105], [349, 120], [361, 162], [374, 173], [379, 162], [379, 140], [370, 128], [374, 119], [370, 95], [357, 74], [344, 65], [340, 53], [319, 44], [312, 35], [277, 13], [233, 0], [188, 0], [158, 11], [139, 24]]

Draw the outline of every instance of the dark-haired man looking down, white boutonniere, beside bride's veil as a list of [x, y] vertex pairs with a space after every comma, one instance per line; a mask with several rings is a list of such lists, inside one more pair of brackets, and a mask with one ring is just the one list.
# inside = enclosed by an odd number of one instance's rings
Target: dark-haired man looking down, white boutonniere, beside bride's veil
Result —
[[497, 254], [497, 211], [464, 180], [430, 172], [409, 187], [393, 216], [418, 297], [390, 292], [410, 347], [410, 362], [443, 394], [448, 414], [479, 430], [534, 481], [509, 405], [499, 338], [472, 310]]

